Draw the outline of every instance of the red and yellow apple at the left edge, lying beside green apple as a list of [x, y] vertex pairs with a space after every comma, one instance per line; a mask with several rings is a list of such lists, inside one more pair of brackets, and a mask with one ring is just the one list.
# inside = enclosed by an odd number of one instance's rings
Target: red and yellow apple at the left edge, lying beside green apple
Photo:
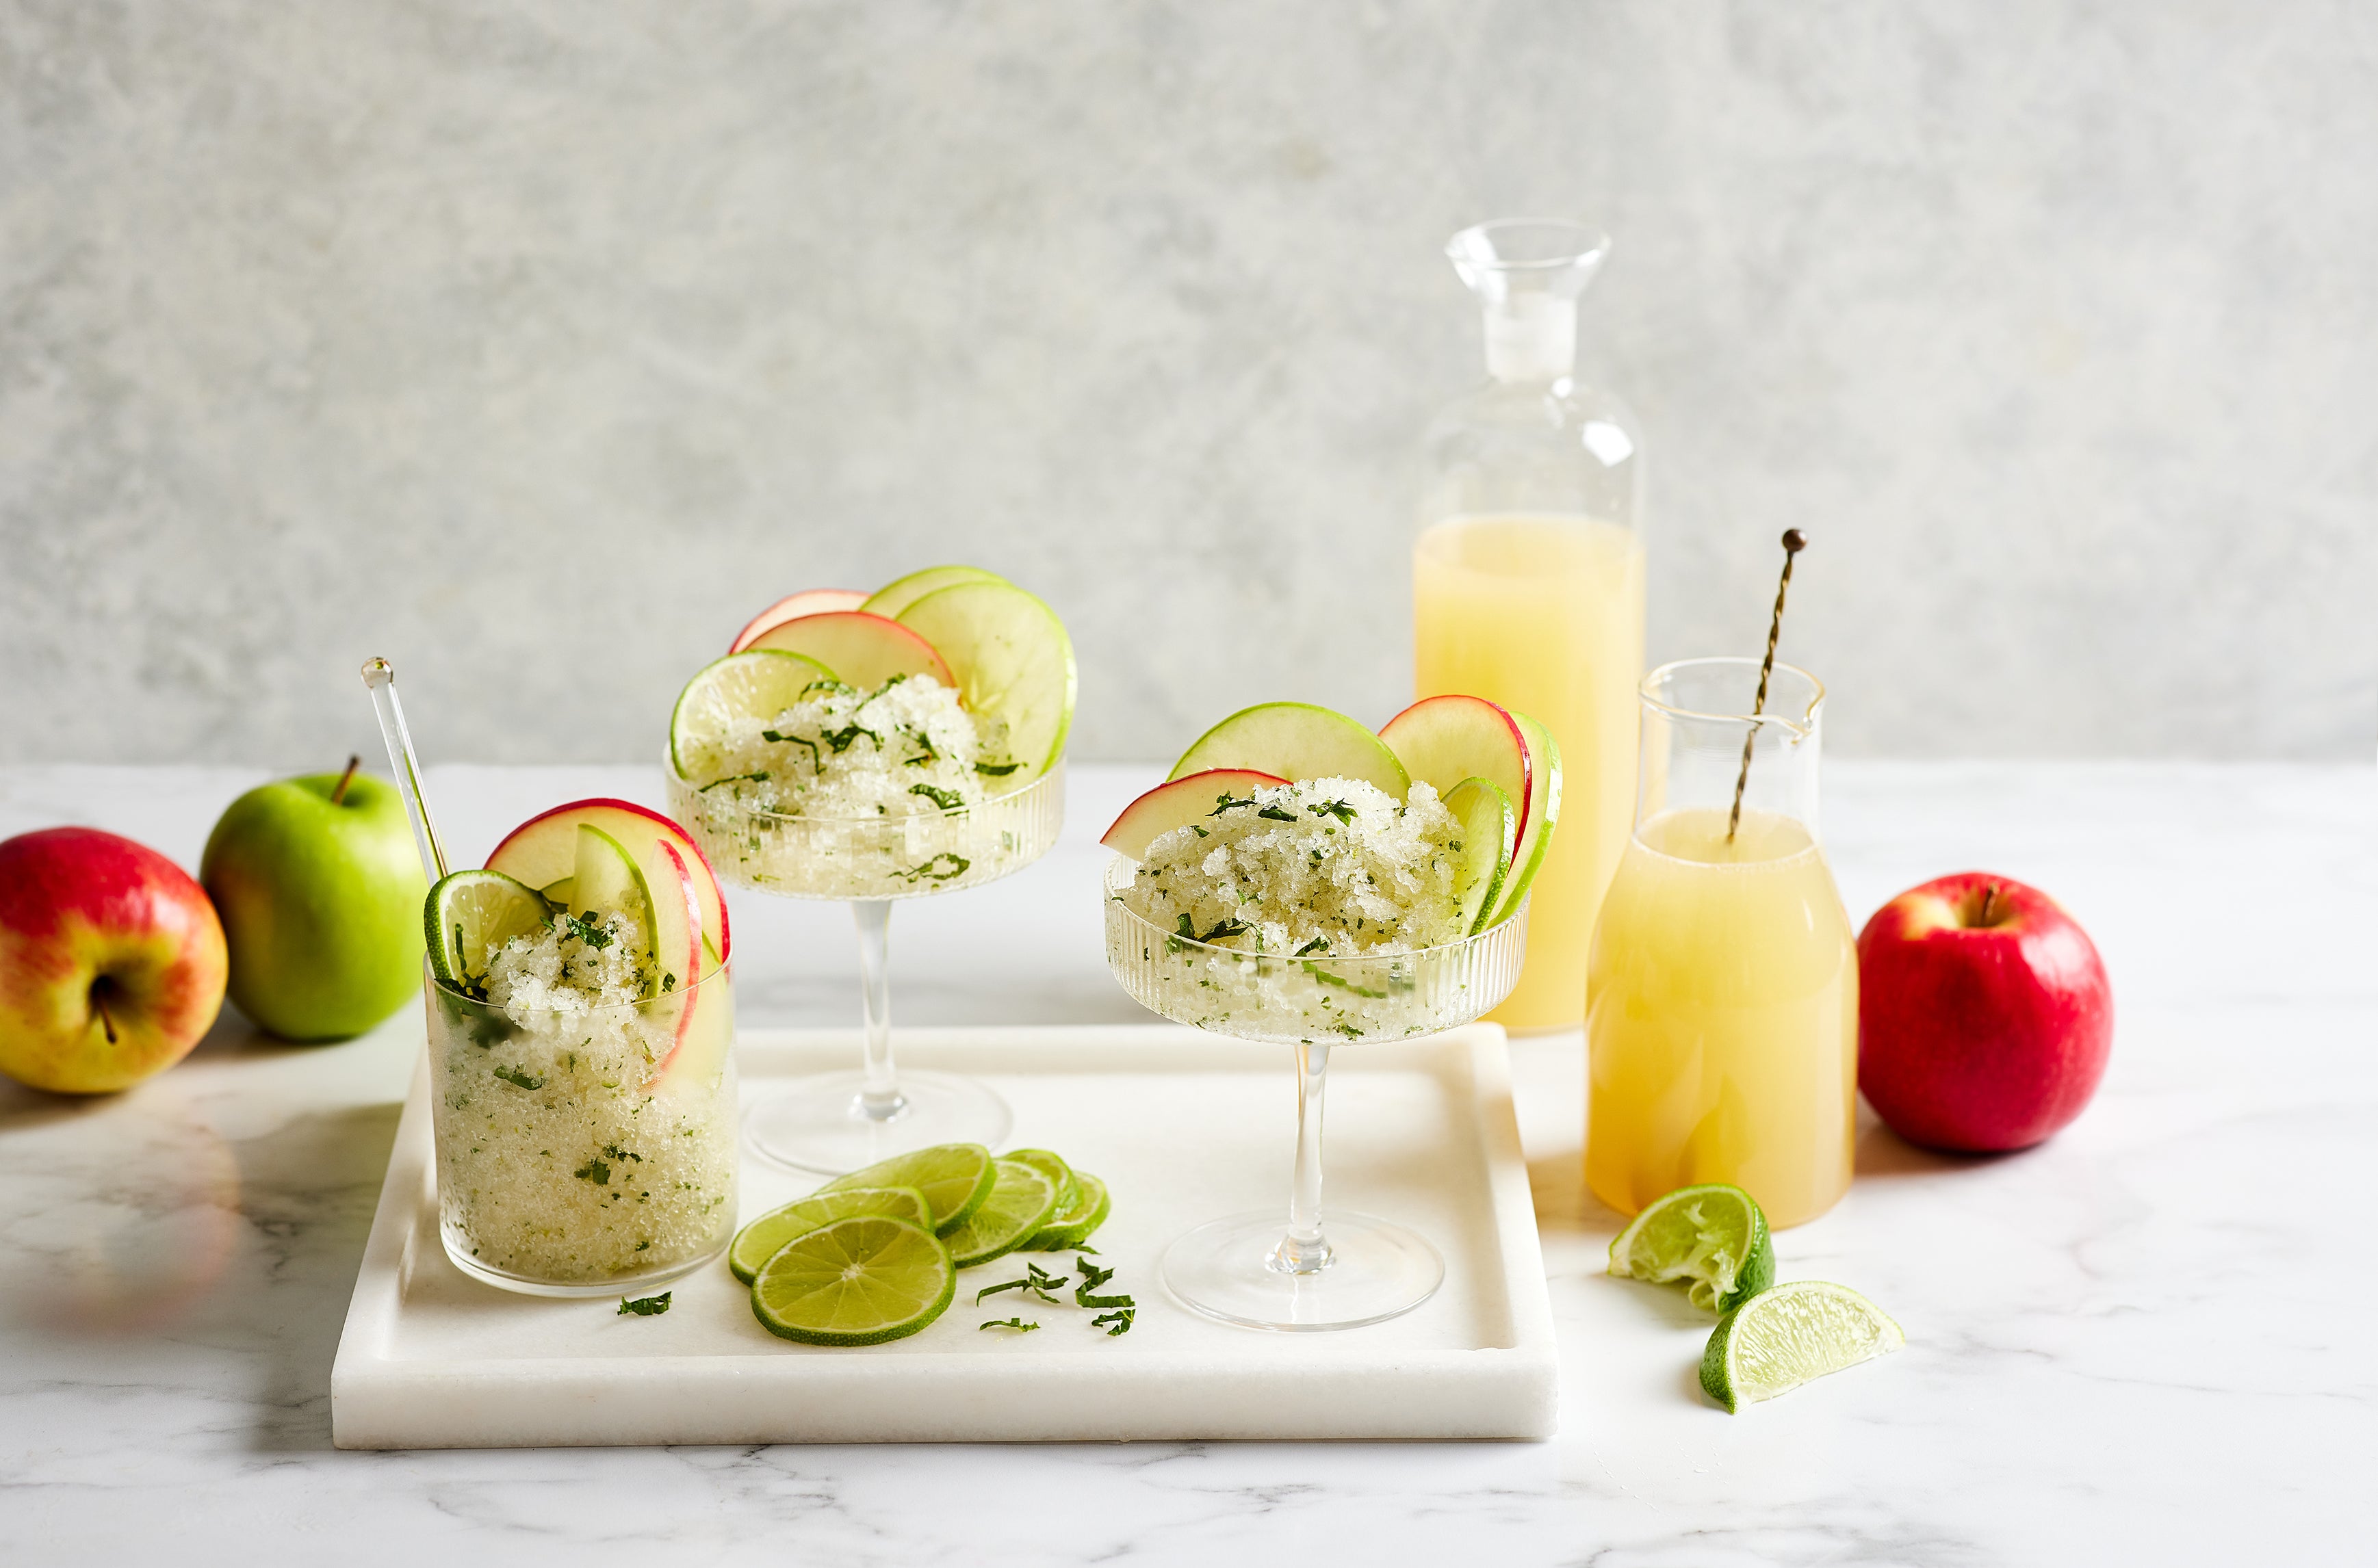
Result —
[[190, 1055], [224, 1007], [224, 924], [188, 872], [95, 827], [0, 843], [0, 1071], [69, 1095]]

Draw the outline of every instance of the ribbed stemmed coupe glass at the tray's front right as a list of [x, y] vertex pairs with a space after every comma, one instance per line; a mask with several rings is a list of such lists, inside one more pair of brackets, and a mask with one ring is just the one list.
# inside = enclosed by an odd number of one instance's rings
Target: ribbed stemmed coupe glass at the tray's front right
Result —
[[1141, 1007], [1234, 1041], [1296, 1045], [1296, 1176], [1289, 1209], [1206, 1221], [1165, 1250], [1165, 1288], [1239, 1328], [1363, 1328], [1420, 1307], [1446, 1278], [1420, 1233], [1372, 1214], [1322, 1228], [1322, 1098], [1329, 1052], [1467, 1024], [1510, 995], [1527, 905], [1465, 941], [1415, 953], [1291, 957], [1165, 931], [1122, 896], [1137, 862], [1106, 870], [1106, 967]]

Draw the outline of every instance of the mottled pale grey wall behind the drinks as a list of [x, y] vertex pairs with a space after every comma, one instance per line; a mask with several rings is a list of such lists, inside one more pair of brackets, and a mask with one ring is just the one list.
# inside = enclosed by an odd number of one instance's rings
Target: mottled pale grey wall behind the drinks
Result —
[[0, 5], [0, 760], [647, 758], [780, 592], [1049, 596], [1077, 755], [1405, 696], [1439, 257], [1617, 235], [1653, 653], [1836, 748], [2368, 755], [2354, 0]]

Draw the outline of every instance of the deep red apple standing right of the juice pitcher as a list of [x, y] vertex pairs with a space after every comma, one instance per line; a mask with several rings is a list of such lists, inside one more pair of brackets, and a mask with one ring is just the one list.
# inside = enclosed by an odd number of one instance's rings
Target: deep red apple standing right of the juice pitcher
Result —
[[2097, 1093], [2112, 1043], [2095, 943], [2012, 877], [1936, 877], [1857, 934], [1857, 1088], [1910, 1143], [2031, 1147]]

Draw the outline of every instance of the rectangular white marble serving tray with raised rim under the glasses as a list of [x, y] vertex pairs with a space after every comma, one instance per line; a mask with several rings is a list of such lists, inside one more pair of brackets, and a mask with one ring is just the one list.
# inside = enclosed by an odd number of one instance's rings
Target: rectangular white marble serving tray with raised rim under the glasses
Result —
[[[744, 1102], [856, 1052], [849, 1031], [749, 1031]], [[1189, 1226], [1286, 1202], [1289, 1048], [1156, 1024], [913, 1029], [899, 1052], [992, 1081], [1015, 1107], [1015, 1147], [1053, 1147], [1108, 1181], [1115, 1209], [1094, 1245], [1115, 1266], [1106, 1290], [1139, 1300], [1132, 1333], [1106, 1338], [1089, 1311], [1015, 1292], [975, 1307], [1020, 1259], [968, 1269], [937, 1323], [868, 1349], [768, 1335], [723, 1259], [675, 1281], [656, 1319], [480, 1285], [438, 1245], [423, 1071], [331, 1373], [338, 1447], [1553, 1433], [1553, 1316], [1501, 1029], [1334, 1052], [1327, 1205], [1389, 1214], [1446, 1257], [1434, 1300], [1348, 1333], [1225, 1328], [1156, 1276]], [[747, 1159], [742, 1214], [813, 1186]], [[1042, 1328], [977, 1328], [1018, 1311]]]

